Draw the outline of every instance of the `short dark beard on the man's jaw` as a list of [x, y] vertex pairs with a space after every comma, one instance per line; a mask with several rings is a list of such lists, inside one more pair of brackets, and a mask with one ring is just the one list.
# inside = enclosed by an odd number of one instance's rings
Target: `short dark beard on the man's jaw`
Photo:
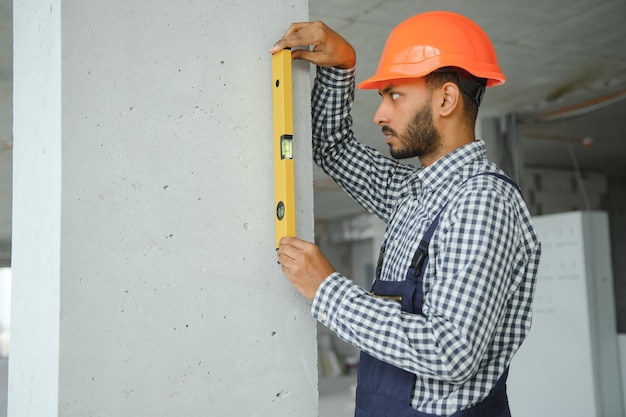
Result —
[[389, 153], [395, 159], [408, 159], [417, 156], [421, 158], [433, 154], [440, 146], [439, 132], [433, 124], [433, 112], [430, 101], [415, 113], [413, 120], [402, 134], [397, 134], [388, 126], [383, 127], [383, 133], [391, 133], [400, 141], [400, 146], [394, 148], [389, 144]]

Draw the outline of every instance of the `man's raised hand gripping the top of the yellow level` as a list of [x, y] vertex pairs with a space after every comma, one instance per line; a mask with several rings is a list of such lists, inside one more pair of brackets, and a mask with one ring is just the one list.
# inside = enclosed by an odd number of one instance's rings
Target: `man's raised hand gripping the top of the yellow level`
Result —
[[[313, 46], [309, 50], [309, 47]], [[303, 59], [321, 67], [352, 68], [356, 64], [356, 54], [352, 45], [323, 22], [292, 24], [283, 38], [276, 42], [270, 52], [276, 53], [285, 48], [293, 49], [293, 59]]]

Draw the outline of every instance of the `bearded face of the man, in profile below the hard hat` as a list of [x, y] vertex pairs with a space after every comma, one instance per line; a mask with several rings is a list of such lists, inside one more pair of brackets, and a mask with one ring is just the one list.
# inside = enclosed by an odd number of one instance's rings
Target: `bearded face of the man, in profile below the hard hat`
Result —
[[433, 123], [432, 92], [423, 79], [394, 81], [380, 95], [382, 103], [374, 121], [382, 126], [391, 156], [406, 159], [434, 154], [441, 141]]

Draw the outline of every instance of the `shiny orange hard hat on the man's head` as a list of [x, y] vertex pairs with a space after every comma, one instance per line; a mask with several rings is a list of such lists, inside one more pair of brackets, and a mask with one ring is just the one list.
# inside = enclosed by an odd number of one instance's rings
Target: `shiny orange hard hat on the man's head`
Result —
[[486, 79], [487, 87], [506, 80], [480, 26], [457, 13], [432, 11], [410, 17], [393, 29], [376, 73], [359, 83], [359, 88], [378, 89], [383, 81], [419, 78], [443, 67], [462, 68]]

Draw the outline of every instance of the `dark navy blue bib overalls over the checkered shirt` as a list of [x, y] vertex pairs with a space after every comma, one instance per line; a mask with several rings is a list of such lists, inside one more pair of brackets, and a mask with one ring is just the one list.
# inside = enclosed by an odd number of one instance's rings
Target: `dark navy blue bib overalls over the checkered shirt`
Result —
[[[494, 172], [484, 172], [477, 175], [494, 175], [511, 183], [519, 190], [517, 184], [504, 175]], [[376, 267], [376, 279], [372, 286], [372, 294], [374, 296], [400, 302], [402, 311], [407, 313], [423, 314], [422, 283], [426, 263], [428, 262], [428, 246], [439, 224], [439, 217], [442, 211], [443, 208], [424, 233], [404, 281], [380, 280], [385, 248], [381, 249]], [[506, 395], [507, 374], [508, 370], [500, 377], [487, 398], [470, 408], [454, 413], [452, 416], [510, 417]], [[361, 352], [357, 377], [355, 417], [437, 417], [433, 414], [422, 413], [411, 407], [411, 395], [414, 390], [415, 380], [414, 374], [376, 359], [365, 352]]]

